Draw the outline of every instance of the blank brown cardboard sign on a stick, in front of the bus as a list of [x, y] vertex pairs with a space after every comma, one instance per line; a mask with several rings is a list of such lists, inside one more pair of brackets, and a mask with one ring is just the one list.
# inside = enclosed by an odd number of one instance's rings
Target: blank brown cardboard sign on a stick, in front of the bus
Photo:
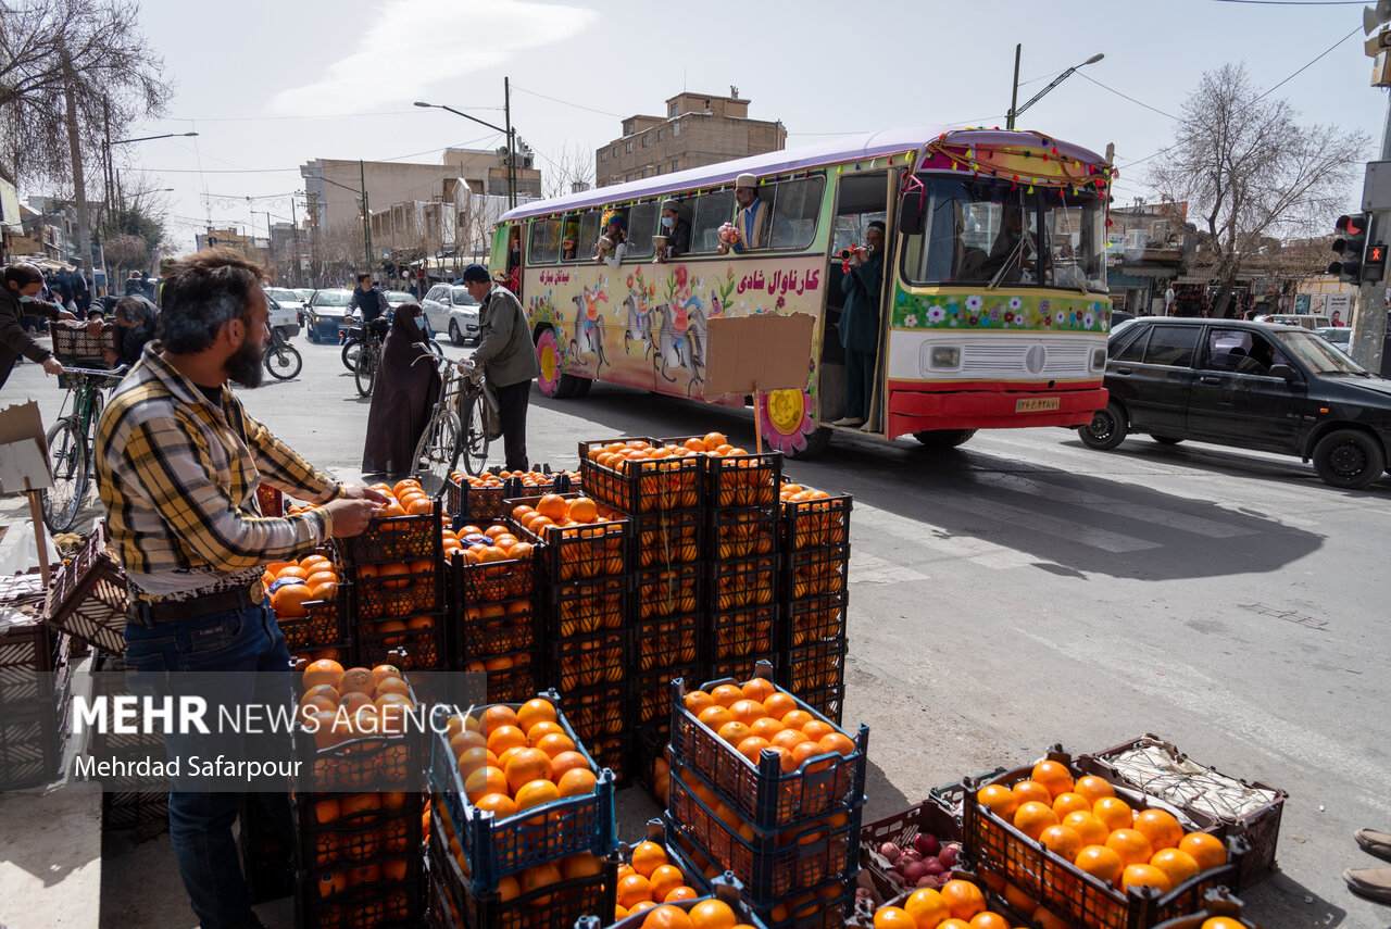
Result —
[[705, 396], [807, 387], [811, 334], [807, 313], [718, 316], [705, 323]]

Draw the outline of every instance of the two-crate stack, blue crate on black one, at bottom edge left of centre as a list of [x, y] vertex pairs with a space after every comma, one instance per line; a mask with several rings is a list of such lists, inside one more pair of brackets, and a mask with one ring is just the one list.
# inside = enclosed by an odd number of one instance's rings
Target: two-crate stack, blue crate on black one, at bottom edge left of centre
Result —
[[[594, 768], [561, 698], [556, 723]], [[516, 711], [520, 704], [508, 704]], [[483, 719], [487, 708], [479, 708]], [[445, 733], [430, 743], [430, 908], [445, 929], [572, 929], [590, 912], [612, 912], [618, 884], [613, 775], [594, 793], [551, 801], [544, 815], [497, 818], [474, 807]], [[531, 884], [536, 884], [534, 887]], [[544, 884], [544, 886], [542, 886]]]

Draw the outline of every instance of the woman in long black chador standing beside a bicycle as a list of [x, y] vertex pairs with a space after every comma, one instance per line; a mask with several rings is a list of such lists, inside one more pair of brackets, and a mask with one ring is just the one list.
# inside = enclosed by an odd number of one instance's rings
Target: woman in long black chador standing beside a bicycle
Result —
[[389, 474], [395, 481], [416, 470], [420, 434], [440, 399], [440, 371], [426, 346], [424, 310], [419, 303], [396, 307], [381, 346], [371, 384], [371, 409], [362, 451], [364, 474]]

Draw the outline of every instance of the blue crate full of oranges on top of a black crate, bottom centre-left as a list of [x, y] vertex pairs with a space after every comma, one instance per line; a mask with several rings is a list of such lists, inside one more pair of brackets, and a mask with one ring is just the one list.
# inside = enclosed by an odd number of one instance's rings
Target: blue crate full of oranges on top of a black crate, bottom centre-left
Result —
[[618, 847], [613, 775], [595, 766], [554, 691], [452, 718], [431, 740], [430, 787], [474, 894], [536, 865]]

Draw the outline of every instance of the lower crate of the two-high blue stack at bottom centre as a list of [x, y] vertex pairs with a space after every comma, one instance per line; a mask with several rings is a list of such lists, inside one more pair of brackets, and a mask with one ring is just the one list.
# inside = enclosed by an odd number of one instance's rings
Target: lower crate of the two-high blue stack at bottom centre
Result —
[[[800, 826], [762, 833], [732, 826], [707, 800], [716, 797], [673, 755], [665, 825], [733, 872], [755, 907], [773, 907], [860, 868], [860, 811], [828, 812]], [[705, 793], [701, 798], [700, 793]]]

